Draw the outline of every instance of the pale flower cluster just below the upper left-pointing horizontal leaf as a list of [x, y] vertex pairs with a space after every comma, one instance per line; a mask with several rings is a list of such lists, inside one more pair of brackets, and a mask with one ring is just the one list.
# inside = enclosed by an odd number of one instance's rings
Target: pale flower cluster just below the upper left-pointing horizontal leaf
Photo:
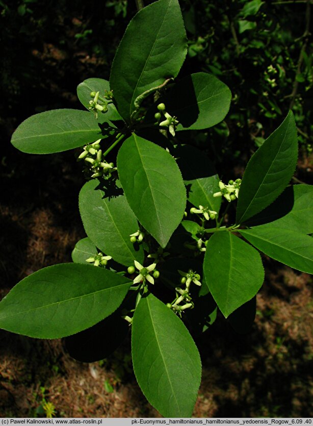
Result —
[[85, 161], [86, 172], [91, 172], [91, 178], [110, 177], [112, 171], [116, 170], [113, 163], [107, 163], [100, 149], [101, 139], [84, 146], [84, 151], [78, 157]]

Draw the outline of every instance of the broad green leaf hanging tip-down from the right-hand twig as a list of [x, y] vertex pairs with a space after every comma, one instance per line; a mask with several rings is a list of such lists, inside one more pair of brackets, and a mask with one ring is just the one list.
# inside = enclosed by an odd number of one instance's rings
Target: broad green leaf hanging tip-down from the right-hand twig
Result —
[[264, 280], [258, 252], [227, 231], [217, 232], [208, 240], [203, 272], [225, 318], [255, 296]]

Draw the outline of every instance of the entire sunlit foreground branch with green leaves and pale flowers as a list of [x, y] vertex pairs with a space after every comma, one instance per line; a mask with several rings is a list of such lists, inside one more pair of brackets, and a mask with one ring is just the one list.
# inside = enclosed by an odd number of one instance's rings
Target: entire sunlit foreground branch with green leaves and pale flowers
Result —
[[264, 280], [257, 249], [313, 271], [312, 188], [288, 186], [297, 163], [293, 114], [258, 148], [242, 181], [222, 182], [179, 133], [219, 123], [231, 94], [204, 72], [176, 80], [186, 52], [177, 0], [159, 0], [129, 23], [110, 82], [78, 86], [87, 111], [52, 110], [20, 124], [12, 143], [22, 152], [79, 148], [87, 238], [73, 263], [33, 273], [0, 303], [3, 329], [65, 337], [69, 353], [86, 362], [107, 357], [131, 328], [138, 383], [167, 417], [193, 412], [201, 361], [191, 335], [217, 309], [235, 330], [253, 322]]

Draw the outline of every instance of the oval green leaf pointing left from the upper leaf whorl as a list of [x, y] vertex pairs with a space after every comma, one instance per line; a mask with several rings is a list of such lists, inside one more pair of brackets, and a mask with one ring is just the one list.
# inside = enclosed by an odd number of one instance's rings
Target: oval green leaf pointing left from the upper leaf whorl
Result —
[[92, 114], [61, 109], [27, 118], [13, 133], [11, 142], [23, 153], [51, 154], [77, 148], [102, 137]]

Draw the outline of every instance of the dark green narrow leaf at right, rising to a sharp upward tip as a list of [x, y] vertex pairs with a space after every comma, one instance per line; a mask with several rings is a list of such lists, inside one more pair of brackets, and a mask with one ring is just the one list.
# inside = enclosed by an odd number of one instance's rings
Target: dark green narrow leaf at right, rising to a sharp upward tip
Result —
[[290, 111], [247, 165], [238, 198], [238, 224], [265, 209], [281, 194], [293, 176], [297, 156], [297, 129]]

